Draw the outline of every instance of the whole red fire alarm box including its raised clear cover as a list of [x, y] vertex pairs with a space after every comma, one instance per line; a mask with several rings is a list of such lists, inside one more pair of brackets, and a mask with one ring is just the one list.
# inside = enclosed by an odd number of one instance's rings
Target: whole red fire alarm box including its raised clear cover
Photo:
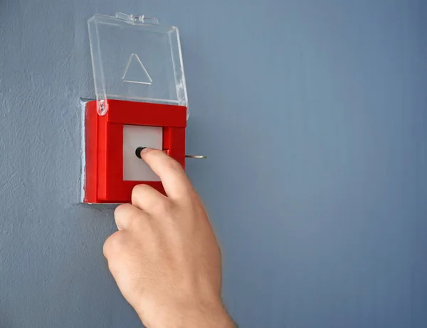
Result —
[[184, 167], [189, 116], [179, 34], [155, 18], [88, 21], [96, 100], [86, 102], [83, 202], [130, 202], [141, 183], [162, 182], [135, 151], [162, 149]]

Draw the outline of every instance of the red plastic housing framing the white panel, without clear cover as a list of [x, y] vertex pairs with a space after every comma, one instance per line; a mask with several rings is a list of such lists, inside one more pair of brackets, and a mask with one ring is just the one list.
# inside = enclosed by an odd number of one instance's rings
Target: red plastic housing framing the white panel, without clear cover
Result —
[[186, 107], [110, 99], [107, 108], [100, 116], [95, 100], [85, 106], [83, 202], [130, 202], [133, 187], [142, 183], [164, 194], [162, 182], [123, 180], [123, 126], [161, 126], [163, 150], [184, 168]]

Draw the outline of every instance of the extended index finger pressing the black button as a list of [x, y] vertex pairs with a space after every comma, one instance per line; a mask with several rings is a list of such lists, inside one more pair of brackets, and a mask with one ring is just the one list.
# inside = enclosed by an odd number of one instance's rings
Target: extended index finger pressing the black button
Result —
[[184, 169], [172, 157], [157, 149], [144, 148], [141, 158], [159, 175], [168, 197], [183, 198], [192, 192], [193, 186]]

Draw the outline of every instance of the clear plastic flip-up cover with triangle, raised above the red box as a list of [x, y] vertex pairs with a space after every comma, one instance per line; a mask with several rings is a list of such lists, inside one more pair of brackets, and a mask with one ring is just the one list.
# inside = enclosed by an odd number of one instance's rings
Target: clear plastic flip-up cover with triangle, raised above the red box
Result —
[[117, 13], [88, 21], [97, 111], [107, 99], [187, 107], [178, 29], [156, 18]]

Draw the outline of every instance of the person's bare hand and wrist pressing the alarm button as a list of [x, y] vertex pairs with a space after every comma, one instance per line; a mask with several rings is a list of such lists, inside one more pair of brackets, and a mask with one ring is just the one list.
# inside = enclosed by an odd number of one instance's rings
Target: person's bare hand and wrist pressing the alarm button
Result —
[[221, 251], [181, 165], [162, 151], [141, 157], [167, 197], [147, 185], [115, 210], [104, 244], [108, 267], [147, 328], [233, 328], [221, 302]]

